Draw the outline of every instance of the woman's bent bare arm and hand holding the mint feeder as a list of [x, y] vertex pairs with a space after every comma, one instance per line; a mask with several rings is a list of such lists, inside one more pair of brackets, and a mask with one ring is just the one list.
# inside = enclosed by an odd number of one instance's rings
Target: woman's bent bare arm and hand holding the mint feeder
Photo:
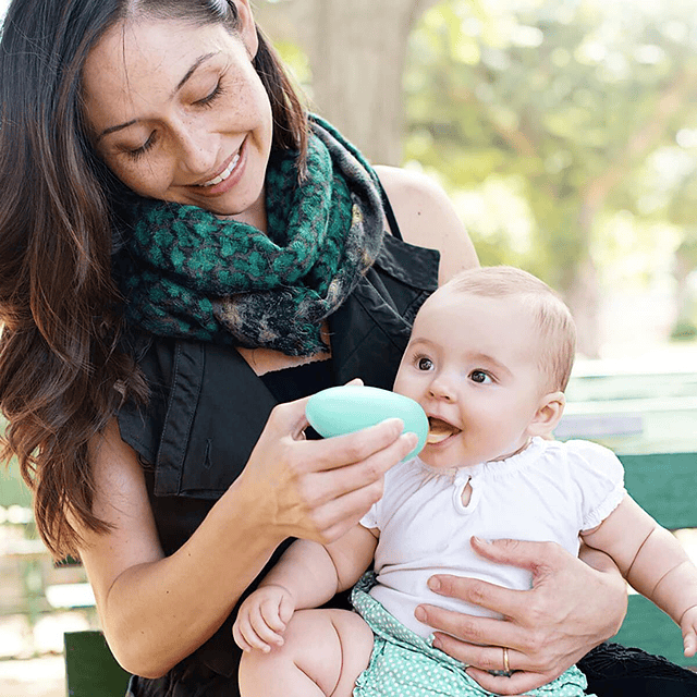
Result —
[[113, 421], [91, 443], [95, 513], [112, 529], [83, 530], [81, 557], [105, 634], [129, 671], [157, 677], [225, 620], [288, 537], [328, 542], [382, 493], [382, 475], [415, 445], [398, 419], [305, 441], [306, 400], [279, 405], [243, 474], [171, 557], [158, 541], [140, 464]]

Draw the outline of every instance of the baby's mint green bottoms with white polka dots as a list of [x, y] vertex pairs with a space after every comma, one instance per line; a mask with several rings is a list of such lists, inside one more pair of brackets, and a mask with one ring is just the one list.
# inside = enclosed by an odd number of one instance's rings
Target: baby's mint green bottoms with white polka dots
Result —
[[[403, 626], [368, 594], [375, 575], [366, 574], [351, 601], [375, 634], [368, 668], [358, 676], [354, 697], [488, 697], [460, 661]], [[534, 697], [583, 697], [586, 677], [571, 668], [555, 681], [530, 693]], [[595, 696], [588, 696], [595, 697]]]

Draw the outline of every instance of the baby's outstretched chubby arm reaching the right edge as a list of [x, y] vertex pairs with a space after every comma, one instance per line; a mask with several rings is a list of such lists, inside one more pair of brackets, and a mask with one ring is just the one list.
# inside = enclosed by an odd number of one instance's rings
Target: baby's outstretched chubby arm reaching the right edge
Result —
[[680, 542], [631, 497], [584, 541], [614, 559], [622, 575], [683, 631], [685, 656], [697, 651], [697, 568]]

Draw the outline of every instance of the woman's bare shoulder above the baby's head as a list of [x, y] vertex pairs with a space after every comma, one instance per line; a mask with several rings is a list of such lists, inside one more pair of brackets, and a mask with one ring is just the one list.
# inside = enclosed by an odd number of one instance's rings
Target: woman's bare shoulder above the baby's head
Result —
[[441, 254], [439, 282], [478, 266], [472, 240], [443, 188], [421, 172], [375, 168], [390, 199], [404, 240]]

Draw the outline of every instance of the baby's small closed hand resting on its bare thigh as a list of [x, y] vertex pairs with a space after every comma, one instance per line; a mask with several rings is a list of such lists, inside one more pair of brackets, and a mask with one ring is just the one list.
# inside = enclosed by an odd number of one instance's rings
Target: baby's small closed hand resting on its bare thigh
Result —
[[282, 586], [258, 588], [240, 607], [232, 636], [243, 651], [268, 653], [272, 644], [283, 645], [282, 635], [294, 611], [293, 596]]

